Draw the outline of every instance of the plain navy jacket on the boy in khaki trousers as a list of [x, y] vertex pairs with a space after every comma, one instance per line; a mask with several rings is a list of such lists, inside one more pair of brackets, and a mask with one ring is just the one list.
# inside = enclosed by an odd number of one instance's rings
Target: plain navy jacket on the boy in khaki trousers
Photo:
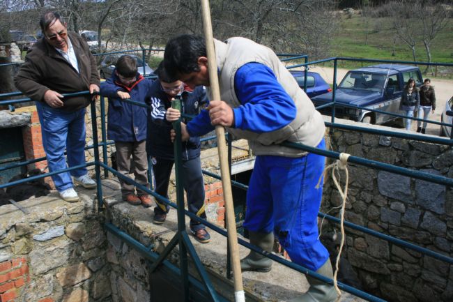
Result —
[[126, 103], [118, 97], [118, 91], [130, 94], [130, 99], [147, 105], [151, 104], [153, 82], [137, 73], [137, 81], [132, 86], [121, 84], [116, 73], [100, 84], [100, 95], [109, 98], [107, 137], [118, 142], [141, 142], [146, 139], [148, 109]]

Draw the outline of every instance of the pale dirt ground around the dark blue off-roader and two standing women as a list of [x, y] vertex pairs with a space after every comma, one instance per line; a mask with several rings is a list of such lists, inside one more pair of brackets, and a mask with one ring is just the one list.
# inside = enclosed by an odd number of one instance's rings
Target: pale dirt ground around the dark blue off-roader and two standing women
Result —
[[[328, 83], [333, 83], [333, 68], [314, 66], [310, 68], [310, 71], [319, 73]], [[337, 69], [337, 84], [343, 79], [347, 72], [347, 69]], [[431, 113], [429, 115], [429, 119], [440, 121], [440, 114], [442, 114], [445, 108], [445, 103], [453, 96], [453, 80], [436, 79], [433, 77], [430, 77], [430, 79], [431, 84], [436, 91], [436, 111], [434, 114]], [[413, 121], [412, 130], [415, 131], [416, 129], [417, 122]], [[440, 126], [428, 123], [427, 134], [438, 135], [439, 130]]]

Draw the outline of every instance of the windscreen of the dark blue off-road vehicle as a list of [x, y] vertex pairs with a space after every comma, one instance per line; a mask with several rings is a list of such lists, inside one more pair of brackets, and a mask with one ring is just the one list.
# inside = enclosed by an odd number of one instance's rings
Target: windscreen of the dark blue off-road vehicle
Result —
[[385, 75], [364, 73], [360, 71], [350, 72], [339, 84], [340, 88], [352, 88], [368, 91], [382, 91], [385, 83]]

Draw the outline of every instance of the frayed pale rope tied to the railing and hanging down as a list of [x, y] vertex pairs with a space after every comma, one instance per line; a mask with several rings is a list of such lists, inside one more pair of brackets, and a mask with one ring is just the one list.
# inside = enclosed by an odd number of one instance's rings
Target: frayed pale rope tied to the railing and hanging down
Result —
[[[338, 293], [338, 298], [337, 301], [339, 301], [340, 296], [341, 296], [341, 291], [338, 288], [337, 284], [337, 274], [338, 274], [338, 266], [339, 266], [339, 260], [341, 257], [341, 251], [343, 250], [344, 246], [344, 210], [346, 208], [346, 198], [348, 197], [348, 182], [349, 182], [349, 174], [348, 174], [348, 158], [351, 156], [351, 154], [348, 153], [340, 153], [339, 155], [339, 160], [335, 160], [335, 163], [332, 163], [325, 167], [325, 172], [328, 171], [328, 169], [332, 169], [332, 180], [335, 183], [335, 186], [337, 187], [337, 190], [341, 196], [341, 210], [340, 210], [340, 230], [341, 230], [341, 242], [340, 242], [340, 247], [339, 247], [339, 252], [337, 255], [337, 261], [335, 262], [335, 273], [333, 275], [333, 285], [335, 289], [337, 290]], [[344, 189], [341, 188], [341, 185], [339, 181], [337, 180], [337, 176], [335, 176], [335, 172], [339, 172], [339, 170], [344, 170], [346, 174], [346, 183], [344, 185]], [[319, 188], [321, 186], [321, 179], [322, 177], [319, 177], [318, 184], [316, 185], [316, 188]], [[322, 225], [322, 224], [321, 224]], [[321, 232], [319, 232], [319, 235], [321, 236]]]

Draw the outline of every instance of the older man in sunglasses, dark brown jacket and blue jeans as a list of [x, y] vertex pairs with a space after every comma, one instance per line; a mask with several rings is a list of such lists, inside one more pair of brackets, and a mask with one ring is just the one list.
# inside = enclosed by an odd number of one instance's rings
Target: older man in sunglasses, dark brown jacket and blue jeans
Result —
[[[26, 55], [15, 76], [15, 86], [36, 101], [43, 146], [49, 171], [85, 164], [85, 108], [95, 100], [100, 77], [89, 46], [77, 33], [68, 33], [59, 13], [47, 12], [40, 19], [43, 38]], [[89, 90], [91, 95], [63, 97], [63, 93]], [[66, 202], [77, 202], [74, 182], [84, 188], [96, 183], [86, 167], [52, 176], [56, 189]]]

